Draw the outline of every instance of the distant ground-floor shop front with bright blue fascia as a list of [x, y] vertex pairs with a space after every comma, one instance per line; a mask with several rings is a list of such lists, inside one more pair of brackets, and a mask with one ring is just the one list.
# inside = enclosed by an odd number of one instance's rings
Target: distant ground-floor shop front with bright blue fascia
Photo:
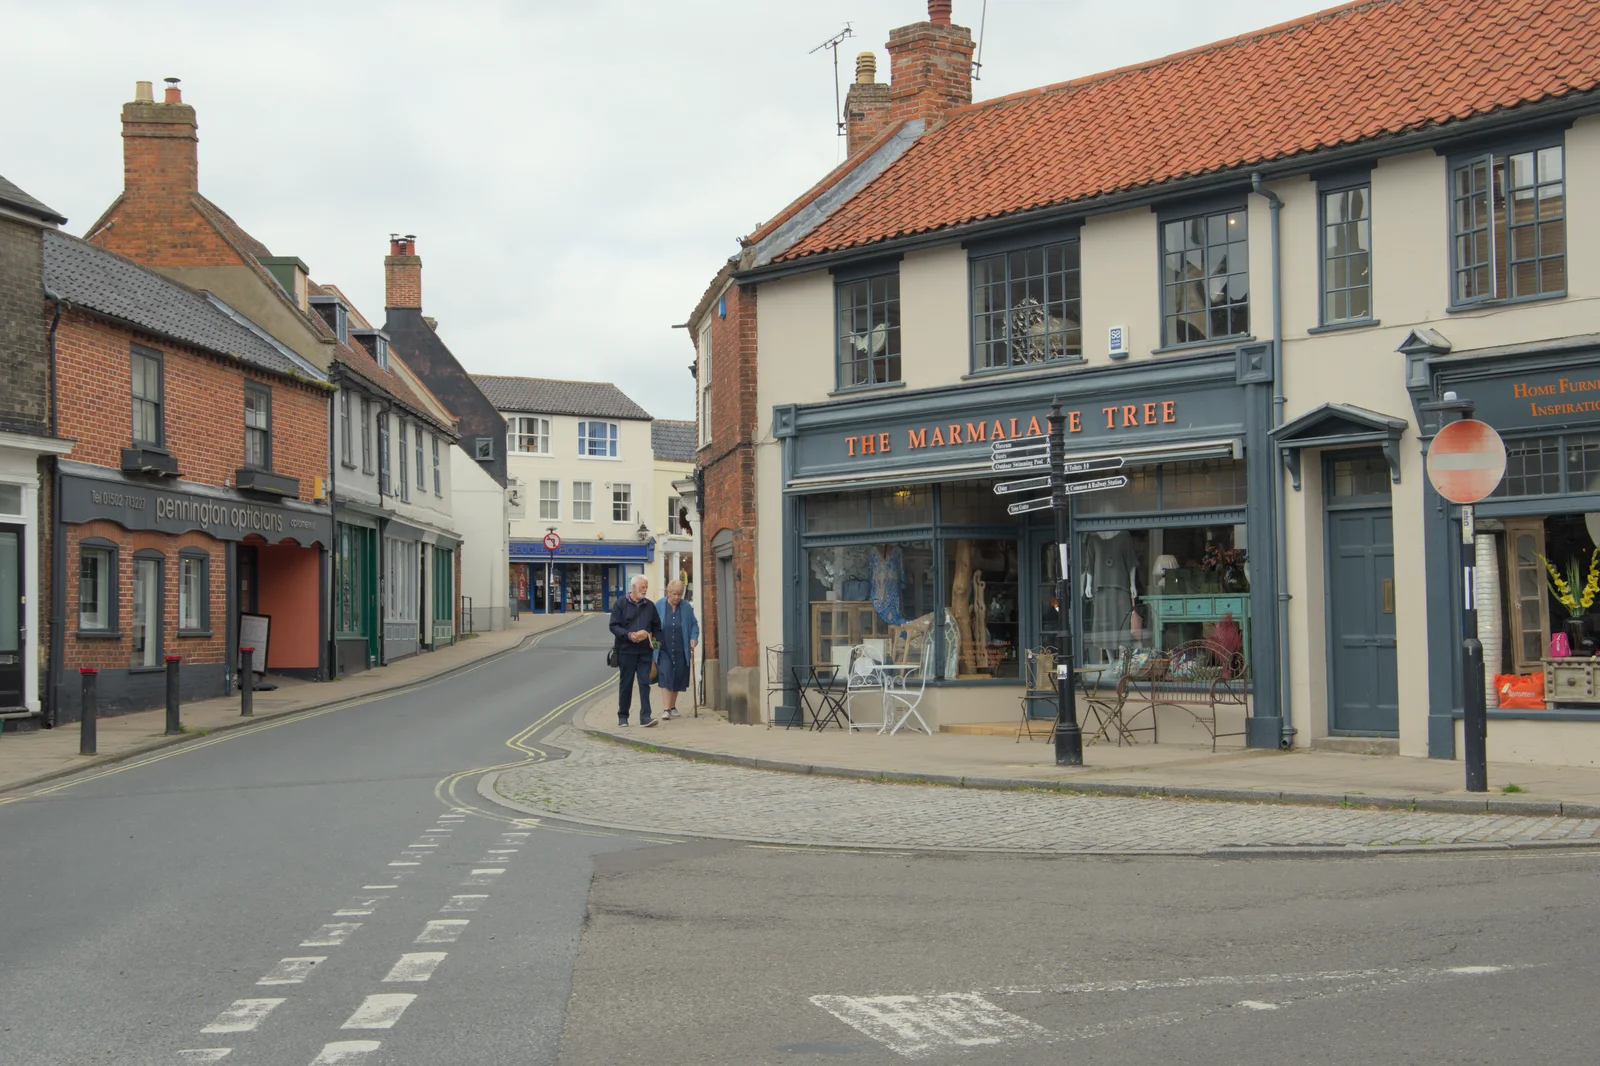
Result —
[[[541, 541], [510, 543], [512, 594], [538, 615], [610, 611], [627, 583], [656, 559], [648, 541], [563, 541], [550, 552]], [[661, 589], [651, 589], [659, 597]]]

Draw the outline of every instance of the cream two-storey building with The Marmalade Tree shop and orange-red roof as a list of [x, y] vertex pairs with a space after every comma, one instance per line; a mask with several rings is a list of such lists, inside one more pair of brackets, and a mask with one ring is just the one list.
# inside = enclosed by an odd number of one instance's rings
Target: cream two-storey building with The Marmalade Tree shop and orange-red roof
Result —
[[[1541, 11], [1541, 40], [1570, 48]], [[1230, 43], [1243, 75], [1197, 50], [1106, 75], [1104, 94], [1075, 82], [934, 110], [752, 234], [734, 282], [758, 295], [758, 648], [827, 664], [866, 640], [898, 658], [926, 643], [934, 728], [1018, 720], [1029, 650], [1061, 647], [1059, 552], [1048, 511], [1011, 515], [1027, 493], [992, 491], [990, 445], [1043, 432], [1059, 400], [1069, 458], [1122, 456], [1130, 477], [1070, 509], [1066, 616], [1088, 688], [1115, 703], [1123, 674], [1152, 658], [1182, 674], [1173, 650], [1197, 642], [1238, 645], [1248, 669], [1229, 679], [1245, 706], [1214, 717], [1214, 674], [1168, 677], [1166, 706], [1125, 706], [1139, 739], [1158, 725], [1162, 741], [1461, 757], [1475, 562], [1490, 685], [1522, 679], [1490, 695], [1490, 759], [1600, 763], [1600, 602], [1565, 623], [1541, 562], [1576, 563], [1581, 586], [1600, 559], [1600, 397], [1584, 395], [1600, 392], [1600, 198], [1584, 195], [1600, 102], [1520, 56], [1506, 101], [1442, 85], [1416, 114], [1346, 115], [1360, 94], [1326, 72], [1387, 77], [1365, 56], [1397, 21], [1429, 26], [1472, 82], [1467, 30], [1430, 19], [1406, 0], [1334, 11]], [[918, 29], [933, 48], [965, 32]], [[1146, 82], [1198, 99], [1214, 78], [1243, 112], [1253, 93], [1323, 102], [1304, 128], [1218, 115], [1226, 154], [1182, 166], [1157, 150], [1176, 118], [1117, 112]], [[1104, 122], [1115, 155], [1074, 141], [1086, 155], [1061, 174], [963, 170], [1016, 123], [1048, 154], [1054, 131]], [[954, 173], [938, 202], [906, 192]], [[714, 384], [733, 375], [718, 359]], [[1462, 559], [1459, 509], [1424, 463], [1466, 403], [1509, 464]], [[726, 527], [707, 514], [707, 543]], [[1574, 656], [1550, 656], [1560, 634]], [[790, 682], [779, 715], [794, 707]]]

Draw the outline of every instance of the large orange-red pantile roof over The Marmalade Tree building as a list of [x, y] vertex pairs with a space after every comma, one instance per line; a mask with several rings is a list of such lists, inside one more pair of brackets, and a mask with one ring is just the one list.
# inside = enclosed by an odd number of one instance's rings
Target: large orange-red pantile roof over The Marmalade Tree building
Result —
[[947, 112], [778, 259], [1261, 165], [1597, 85], [1597, 0], [1350, 3]]

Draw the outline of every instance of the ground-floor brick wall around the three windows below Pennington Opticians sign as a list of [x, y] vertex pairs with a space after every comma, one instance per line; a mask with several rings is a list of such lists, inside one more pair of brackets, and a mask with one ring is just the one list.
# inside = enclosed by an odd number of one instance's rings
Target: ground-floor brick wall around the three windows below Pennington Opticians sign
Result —
[[[133, 554], [144, 549], [162, 552], [162, 655], [179, 655], [184, 663], [222, 663], [227, 656], [227, 565], [222, 541], [205, 533], [134, 533], [115, 522], [85, 522], [69, 525], [66, 568], [66, 647], [62, 650], [62, 680], [77, 683], [72, 677], [80, 667], [126, 669], [133, 658]], [[117, 546], [117, 631], [115, 639], [78, 635], [78, 544], [88, 538], [110, 541]], [[208, 637], [178, 635], [178, 552], [198, 547], [210, 554]]]

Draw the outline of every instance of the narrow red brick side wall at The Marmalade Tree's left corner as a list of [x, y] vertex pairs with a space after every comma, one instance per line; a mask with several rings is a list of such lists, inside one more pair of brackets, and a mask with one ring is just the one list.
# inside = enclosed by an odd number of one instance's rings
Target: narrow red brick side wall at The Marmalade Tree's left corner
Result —
[[712, 539], [733, 535], [733, 658], [730, 666], [758, 666], [760, 637], [755, 629], [755, 448], [760, 424], [755, 402], [755, 290], [733, 287], [726, 295], [728, 317], [710, 314], [712, 410], [710, 442], [699, 450], [706, 471], [701, 504], [701, 631], [707, 658], [723, 658], [718, 632], [717, 554]]

